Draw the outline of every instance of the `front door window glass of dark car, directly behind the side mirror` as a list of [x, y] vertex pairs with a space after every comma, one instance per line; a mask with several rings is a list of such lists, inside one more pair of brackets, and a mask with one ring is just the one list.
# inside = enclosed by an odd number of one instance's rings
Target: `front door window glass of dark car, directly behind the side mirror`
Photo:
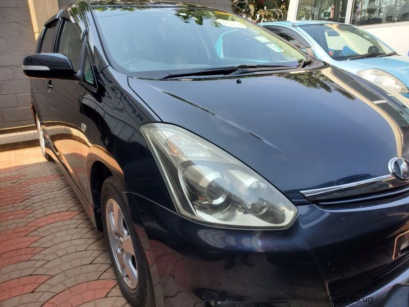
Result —
[[80, 69], [81, 47], [80, 32], [73, 23], [66, 21], [60, 36], [58, 52], [65, 54], [70, 59], [74, 71]]

